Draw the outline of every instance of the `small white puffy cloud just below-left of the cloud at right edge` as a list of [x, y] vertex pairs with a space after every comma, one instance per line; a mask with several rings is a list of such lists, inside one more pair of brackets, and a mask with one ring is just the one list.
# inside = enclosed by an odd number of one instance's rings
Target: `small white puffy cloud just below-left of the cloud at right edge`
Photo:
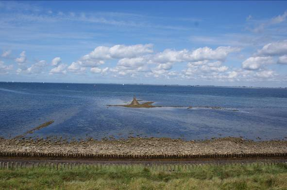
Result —
[[272, 57], [251, 57], [242, 62], [242, 68], [246, 70], [258, 70], [262, 66], [275, 63]]

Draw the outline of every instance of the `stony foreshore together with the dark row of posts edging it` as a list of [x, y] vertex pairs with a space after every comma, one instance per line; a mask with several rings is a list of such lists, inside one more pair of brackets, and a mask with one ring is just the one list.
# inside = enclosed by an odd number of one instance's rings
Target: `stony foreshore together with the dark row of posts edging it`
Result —
[[[254, 142], [226, 137], [204, 141], [169, 138], [127, 140], [55, 141], [51, 139], [0, 139], [0, 156], [118, 158], [216, 158], [287, 156], [287, 141]], [[84, 156], [88, 155], [88, 156]], [[100, 156], [106, 155], [106, 156]], [[109, 155], [109, 156], [108, 156]], [[126, 157], [124, 155], [127, 155]], [[147, 156], [148, 155], [148, 156]], [[227, 155], [227, 156], [226, 156]]]

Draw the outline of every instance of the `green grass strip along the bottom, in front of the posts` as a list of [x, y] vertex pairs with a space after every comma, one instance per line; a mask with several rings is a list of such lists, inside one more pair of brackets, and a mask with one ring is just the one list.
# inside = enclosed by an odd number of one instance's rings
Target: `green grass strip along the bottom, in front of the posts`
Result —
[[0, 169], [0, 190], [287, 190], [287, 164]]

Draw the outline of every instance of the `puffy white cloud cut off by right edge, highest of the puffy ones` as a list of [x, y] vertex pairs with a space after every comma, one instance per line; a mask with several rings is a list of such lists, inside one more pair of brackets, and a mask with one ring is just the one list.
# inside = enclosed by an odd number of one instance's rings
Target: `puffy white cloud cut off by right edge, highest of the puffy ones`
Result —
[[266, 44], [257, 51], [259, 56], [280, 56], [287, 54], [287, 40]]

